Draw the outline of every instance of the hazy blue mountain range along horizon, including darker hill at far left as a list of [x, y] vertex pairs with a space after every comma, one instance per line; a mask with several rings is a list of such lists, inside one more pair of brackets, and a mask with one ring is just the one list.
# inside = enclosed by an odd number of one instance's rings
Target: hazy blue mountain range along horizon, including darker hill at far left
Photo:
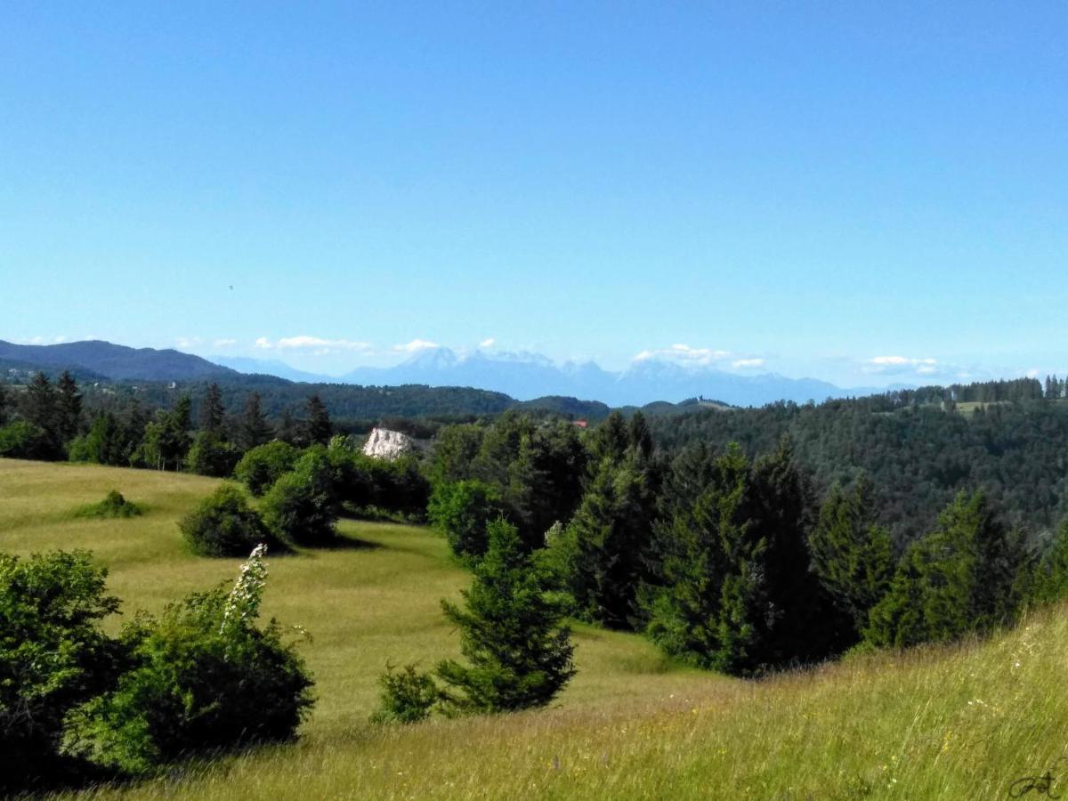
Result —
[[819, 402], [882, 391], [842, 389], [814, 378], [787, 378], [775, 373], [742, 376], [711, 366], [686, 366], [658, 359], [637, 361], [627, 370], [612, 372], [594, 362], [556, 364], [537, 354], [476, 350], [461, 355], [449, 348], [428, 348], [392, 367], [360, 367], [340, 377], [305, 373], [281, 361], [213, 359], [173, 349], [130, 348], [100, 341], [60, 345], [15, 345], [0, 341], [0, 365], [72, 368], [112, 380], [225, 380], [239, 373], [264, 374], [308, 383], [473, 387], [502, 392], [519, 400], [553, 395], [596, 399], [612, 407], [644, 406], [660, 400], [678, 403], [695, 397], [733, 406], [763, 406], [775, 400]]

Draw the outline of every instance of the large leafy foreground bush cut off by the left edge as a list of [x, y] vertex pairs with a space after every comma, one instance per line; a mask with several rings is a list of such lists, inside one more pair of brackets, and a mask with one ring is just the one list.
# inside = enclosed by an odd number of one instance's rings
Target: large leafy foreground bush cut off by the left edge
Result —
[[106, 577], [85, 551], [0, 554], [0, 794], [54, 778], [64, 716], [113, 677]]

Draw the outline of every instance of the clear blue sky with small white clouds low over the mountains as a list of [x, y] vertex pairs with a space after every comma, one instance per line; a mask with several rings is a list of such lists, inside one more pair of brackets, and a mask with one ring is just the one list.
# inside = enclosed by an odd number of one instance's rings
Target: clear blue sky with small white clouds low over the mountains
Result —
[[2, 19], [0, 339], [1068, 371], [1063, 2]]

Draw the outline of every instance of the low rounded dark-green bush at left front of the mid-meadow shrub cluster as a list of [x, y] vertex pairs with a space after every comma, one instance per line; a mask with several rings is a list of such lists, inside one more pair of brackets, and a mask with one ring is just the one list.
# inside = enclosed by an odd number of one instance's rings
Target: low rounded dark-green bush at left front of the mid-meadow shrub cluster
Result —
[[240, 556], [260, 543], [279, 545], [241, 491], [223, 484], [178, 523], [186, 543], [202, 556]]

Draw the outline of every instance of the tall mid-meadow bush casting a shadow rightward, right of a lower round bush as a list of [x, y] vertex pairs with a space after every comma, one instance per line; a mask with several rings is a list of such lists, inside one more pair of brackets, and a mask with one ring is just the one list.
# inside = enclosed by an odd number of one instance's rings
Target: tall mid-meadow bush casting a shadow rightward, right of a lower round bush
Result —
[[326, 449], [310, 447], [292, 472], [274, 482], [261, 508], [267, 527], [282, 539], [303, 546], [332, 544], [341, 503]]

